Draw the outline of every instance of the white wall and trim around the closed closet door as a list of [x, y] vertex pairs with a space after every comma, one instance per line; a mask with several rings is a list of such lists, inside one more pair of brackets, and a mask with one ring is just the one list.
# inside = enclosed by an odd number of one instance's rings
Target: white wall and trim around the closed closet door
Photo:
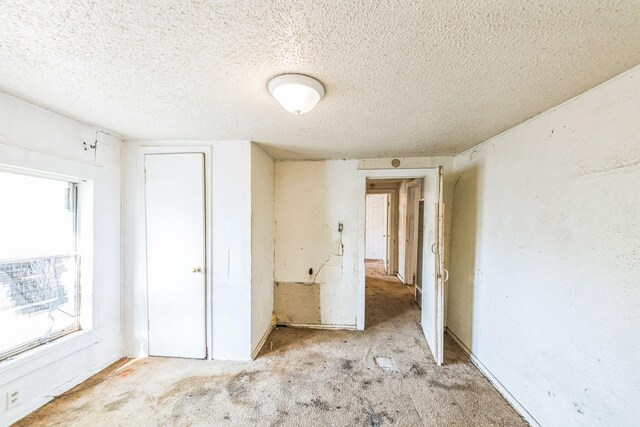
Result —
[[251, 357], [251, 143], [249, 141], [125, 141], [124, 289], [127, 351], [148, 354], [144, 252], [143, 150], [208, 150], [210, 356]]

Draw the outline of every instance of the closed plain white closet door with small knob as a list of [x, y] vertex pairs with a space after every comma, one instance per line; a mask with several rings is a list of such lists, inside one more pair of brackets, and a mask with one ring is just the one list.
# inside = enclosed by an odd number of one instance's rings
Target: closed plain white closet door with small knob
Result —
[[204, 154], [145, 155], [149, 355], [206, 357]]

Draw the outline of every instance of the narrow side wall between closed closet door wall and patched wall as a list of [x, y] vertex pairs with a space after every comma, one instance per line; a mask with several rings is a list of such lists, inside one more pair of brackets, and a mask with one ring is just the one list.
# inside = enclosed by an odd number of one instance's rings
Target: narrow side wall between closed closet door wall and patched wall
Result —
[[256, 355], [271, 331], [275, 162], [257, 145], [251, 147], [251, 349]]

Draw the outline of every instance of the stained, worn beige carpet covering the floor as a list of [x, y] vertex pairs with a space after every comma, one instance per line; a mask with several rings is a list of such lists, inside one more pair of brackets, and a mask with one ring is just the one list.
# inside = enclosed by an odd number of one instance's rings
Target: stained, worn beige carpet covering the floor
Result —
[[526, 425], [449, 339], [436, 366], [409, 288], [368, 267], [364, 332], [279, 328], [253, 362], [119, 362], [18, 425]]

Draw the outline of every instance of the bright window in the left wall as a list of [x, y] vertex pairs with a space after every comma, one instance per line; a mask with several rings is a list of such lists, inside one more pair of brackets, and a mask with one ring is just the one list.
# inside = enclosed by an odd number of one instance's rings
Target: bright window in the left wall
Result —
[[80, 329], [77, 184], [0, 171], [0, 360]]

